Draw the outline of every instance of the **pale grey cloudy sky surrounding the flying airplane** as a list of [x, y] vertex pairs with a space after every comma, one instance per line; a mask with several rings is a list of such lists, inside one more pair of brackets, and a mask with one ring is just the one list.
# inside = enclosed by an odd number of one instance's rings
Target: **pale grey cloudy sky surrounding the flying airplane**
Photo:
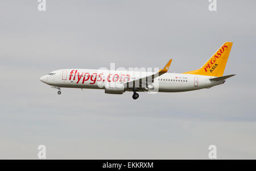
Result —
[[[0, 2], [0, 159], [256, 159], [256, 1]], [[224, 85], [185, 93], [56, 89], [61, 68], [197, 69], [233, 41]]]

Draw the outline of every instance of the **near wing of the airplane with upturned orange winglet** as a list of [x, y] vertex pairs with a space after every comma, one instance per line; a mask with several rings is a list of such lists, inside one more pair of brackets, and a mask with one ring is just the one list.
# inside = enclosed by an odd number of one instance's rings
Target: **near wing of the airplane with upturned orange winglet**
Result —
[[123, 83], [127, 90], [133, 91], [134, 89], [140, 90], [140, 91], [146, 91], [150, 89], [148, 85], [151, 85], [152, 82], [154, 82], [154, 79], [156, 77], [162, 76], [164, 73], [166, 73], [171, 65], [172, 59], [168, 61], [166, 66], [164, 66], [163, 69], [160, 69], [159, 72], [155, 74], [151, 74], [150, 76], [142, 77], [137, 80], [129, 81]]

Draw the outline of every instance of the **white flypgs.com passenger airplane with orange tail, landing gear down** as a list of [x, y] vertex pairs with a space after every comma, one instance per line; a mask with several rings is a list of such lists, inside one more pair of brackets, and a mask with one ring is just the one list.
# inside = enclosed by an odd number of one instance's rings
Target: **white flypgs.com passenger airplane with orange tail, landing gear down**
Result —
[[103, 89], [107, 94], [123, 94], [133, 91], [133, 99], [138, 99], [137, 92], [183, 92], [210, 88], [224, 84], [223, 76], [226, 62], [232, 48], [232, 42], [225, 42], [201, 68], [184, 73], [167, 73], [172, 59], [163, 69], [156, 72], [108, 69], [59, 69], [40, 78], [40, 81], [58, 89]]

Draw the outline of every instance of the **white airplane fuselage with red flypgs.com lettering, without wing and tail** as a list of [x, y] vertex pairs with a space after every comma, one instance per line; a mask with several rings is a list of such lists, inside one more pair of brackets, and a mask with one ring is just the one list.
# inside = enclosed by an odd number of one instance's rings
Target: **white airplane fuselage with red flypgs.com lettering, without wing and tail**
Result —
[[[43, 76], [40, 80], [55, 87], [81, 89], [105, 89], [106, 84], [121, 85], [123, 82], [138, 80], [152, 72], [128, 72], [125, 70], [60, 69]], [[166, 73], [154, 78], [152, 91], [180, 92], [209, 88], [224, 81], [210, 81], [211, 76]], [[129, 91], [129, 90], [127, 90]], [[138, 90], [139, 91], [139, 90]]]

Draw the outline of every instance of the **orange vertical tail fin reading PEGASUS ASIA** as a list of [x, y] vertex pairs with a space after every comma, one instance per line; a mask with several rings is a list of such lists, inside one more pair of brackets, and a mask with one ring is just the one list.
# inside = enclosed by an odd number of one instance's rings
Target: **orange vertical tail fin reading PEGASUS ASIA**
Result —
[[214, 77], [223, 76], [232, 44], [233, 42], [225, 42], [200, 69], [185, 72], [183, 74], [197, 74]]

